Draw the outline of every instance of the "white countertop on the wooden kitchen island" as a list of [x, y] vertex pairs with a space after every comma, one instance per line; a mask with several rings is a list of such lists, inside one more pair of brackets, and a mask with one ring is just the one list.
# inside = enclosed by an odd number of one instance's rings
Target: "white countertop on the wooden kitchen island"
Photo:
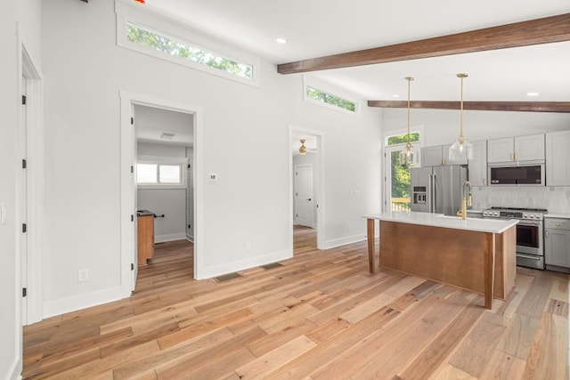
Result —
[[432, 227], [451, 228], [456, 230], [474, 230], [478, 232], [501, 233], [516, 225], [518, 220], [494, 220], [467, 218], [459, 216], [446, 216], [444, 214], [418, 213], [413, 211], [392, 211], [382, 214], [370, 214], [363, 216], [366, 219], [375, 219], [386, 222], [403, 222], [421, 224]]

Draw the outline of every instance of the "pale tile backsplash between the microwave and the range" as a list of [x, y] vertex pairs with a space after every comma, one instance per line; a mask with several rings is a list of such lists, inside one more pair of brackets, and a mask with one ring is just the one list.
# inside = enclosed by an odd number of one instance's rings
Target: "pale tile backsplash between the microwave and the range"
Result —
[[546, 208], [551, 213], [570, 214], [570, 187], [474, 187], [473, 209], [492, 206]]

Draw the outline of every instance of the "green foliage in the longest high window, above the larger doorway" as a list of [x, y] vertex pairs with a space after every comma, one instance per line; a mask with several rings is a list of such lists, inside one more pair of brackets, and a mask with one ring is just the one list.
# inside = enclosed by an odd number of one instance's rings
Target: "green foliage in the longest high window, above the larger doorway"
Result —
[[167, 53], [185, 60], [219, 69], [237, 77], [253, 79], [253, 66], [224, 58], [216, 53], [208, 52], [194, 47], [191, 44], [175, 39], [171, 36], [159, 35], [148, 28], [126, 23], [126, 38], [160, 53]]

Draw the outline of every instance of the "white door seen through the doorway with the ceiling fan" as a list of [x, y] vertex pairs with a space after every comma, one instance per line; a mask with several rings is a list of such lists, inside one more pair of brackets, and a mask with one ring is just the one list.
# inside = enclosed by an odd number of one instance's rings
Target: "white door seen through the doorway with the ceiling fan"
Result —
[[295, 166], [295, 223], [314, 228], [313, 166]]

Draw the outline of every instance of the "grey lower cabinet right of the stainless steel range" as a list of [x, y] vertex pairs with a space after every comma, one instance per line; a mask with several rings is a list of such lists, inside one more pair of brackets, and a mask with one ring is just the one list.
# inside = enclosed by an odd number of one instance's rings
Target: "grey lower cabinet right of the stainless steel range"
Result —
[[570, 271], [570, 219], [544, 218], [544, 261]]

